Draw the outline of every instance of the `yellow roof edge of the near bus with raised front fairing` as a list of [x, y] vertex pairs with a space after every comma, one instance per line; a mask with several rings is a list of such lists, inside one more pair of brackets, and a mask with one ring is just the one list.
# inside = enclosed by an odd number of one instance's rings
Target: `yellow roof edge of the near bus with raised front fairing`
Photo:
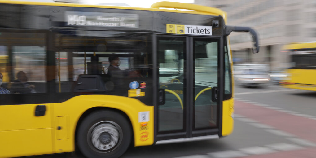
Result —
[[[50, 3], [50, 2], [31, 2], [31, 1], [12, 1], [0, 0], [0, 3], [10, 4], [28, 4], [28, 5], [48, 5], [48, 6], [65, 6], [65, 7], [89, 7], [89, 8], [112, 8], [112, 9], [134, 9], [134, 10], [150, 10], [150, 11], [163, 11], [163, 12], [177, 12], [186, 14], [200, 14], [200, 15], [213, 15], [222, 16], [227, 22], [227, 13], [221, 9], [207, 7], [191, 3], [177, 3], [177, 2], [157, 2], [151, 8], [137, 8], [127, 6], [110, 6], [110, 5], [90, 5], [90, 4], [76, 4], [76, 3]], [[176, 7], [175, 7], [176, 6]], [[169, 8], [169, 9], [161, 9]], [[186, 10], [170, 10], [170, 9], [186, 9]]]

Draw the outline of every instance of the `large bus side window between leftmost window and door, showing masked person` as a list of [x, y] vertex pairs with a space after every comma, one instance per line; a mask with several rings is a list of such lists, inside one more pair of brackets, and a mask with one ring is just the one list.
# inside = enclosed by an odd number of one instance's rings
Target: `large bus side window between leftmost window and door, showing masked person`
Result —
[[[148, 40], [144, 40], [146, 36], [78, 38], [55, 35], [54, 46], [60, 50], [55, 52], [56, 92], [133, 96], [128, 94], [133, 89], [129, 86], [131, 82], [138, 82], [138, 85], [146, 83], [146, 90], [141, 92], [149, 90], [151, 49], [146, 47], [149, 46]], [[87, 80], [97, 83], [87, 83]]]

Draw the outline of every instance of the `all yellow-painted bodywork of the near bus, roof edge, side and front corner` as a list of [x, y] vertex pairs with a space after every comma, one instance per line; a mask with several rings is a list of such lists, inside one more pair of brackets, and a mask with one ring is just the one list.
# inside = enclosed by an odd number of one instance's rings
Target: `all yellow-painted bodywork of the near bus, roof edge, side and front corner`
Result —
[[[173, 2], [164, 2], [160, 3], [160, 5], [156, 4], [152, 6], [153, 8], [7, 0], [1, 0], [0, 3], [135, 9], [186, 14], [215, 15], [222, 16], [224, 21], [227, 22], [226, 12], [211, 7], [203, 6], [201, 8], [201, 6], [195, 4], [181, 4], [181, 8], [191, 8], [195, 11], [158, 9], [159, 7], [163, 6], [176, 6], [176, 4], [178, 4]], [[231, 56], [232, 54], [230, 51], [230, 60]], [[7, 76], [7, 74], [3, 73], [3, 76]], [[4, 81], [9, 80], [8, 77], [5, 78], [7, 79]], [[234, 81], [234, 79], [232, 79], [232, 81]], [[115, 109], [125, 114], [132, 125], [134, 146], [154, 144], [154, 106], [147, 106], [137, 99], [114, 95], [80, 95], [61, 103], [43, 103], [42, 105], [46, 106], [46, 115], [40, 118], [35, 117], [33, 114], [35, 106], [38, 105], [41, 104], [0, 106], [0, 158], [75, 151], [75, 134], [78, 122], [80, 121], [81, 117], [86, 115], [86, 112], [91, 112], [95, 109]], [[6, 113], [8, 111], [10, 111], [10, 113]], [[145, 134], [140, 130], [141, 123], [138, 121], [139, 112], [149, 112], [150, 114], [148, 130]], [[228, 136], [233, 132], [233, 113], [234, 98], [224, 100], [222, 103], [222, 136]], [[8, 120], [6, 118], [14, 119]], [[59, 127], [61, 127], [61, 129], [59, 129]], [[144, 137], [146, 139], [143, 139]], [[14, 142], [19, 143], [16, 144]]]

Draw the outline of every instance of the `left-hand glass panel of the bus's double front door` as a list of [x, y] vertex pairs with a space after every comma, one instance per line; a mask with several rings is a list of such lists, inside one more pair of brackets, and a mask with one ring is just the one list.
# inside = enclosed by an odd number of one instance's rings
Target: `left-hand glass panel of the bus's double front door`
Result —
[[158, 65], [159, 87], [166, 93], [165, 104], [158, 107], [158, 131], [183, 131], [185, 38], [158, 40]]

